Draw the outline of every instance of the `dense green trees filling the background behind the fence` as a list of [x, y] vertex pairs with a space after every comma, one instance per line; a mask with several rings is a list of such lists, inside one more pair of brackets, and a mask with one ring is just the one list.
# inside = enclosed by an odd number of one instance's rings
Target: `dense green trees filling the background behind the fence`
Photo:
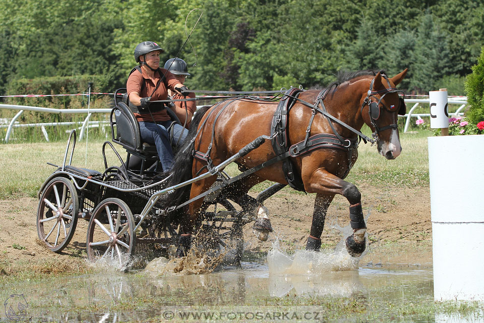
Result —
[[321, 87], [342, 69], [408, 67], [407, 92], [463, 94], [484, 43], [484, 3], [469, 0], [2, 0], [0, 10], [0, 94], [54, 76], [103, 75], [98, 90], [122, 87], [137, 43], [174, 57], [201, 12], [194, 50], [179, 54], [199, 89]]

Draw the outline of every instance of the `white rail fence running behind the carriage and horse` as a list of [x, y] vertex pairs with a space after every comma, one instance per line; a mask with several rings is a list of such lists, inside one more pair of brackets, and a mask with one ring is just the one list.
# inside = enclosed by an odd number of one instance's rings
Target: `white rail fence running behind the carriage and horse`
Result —
[[[414, 103], [408, 113], [404, 116], [398, 116], [399, 118], [406, 118], [405, 120], [405, 127], [403, 128], [403, 132], [407, 132], [408, 127], [410, 126], [411, 118], [421, 119], [422, 117], [429, 117], [430, 113], [427, 114], [413, 114], [413, 111], [420, 105], [420, 103], [430, 104], [429, 99], [405, 99], [405, 103]], [[462, 116], [463, 113], [461, 111], [467, 106], [467, 100], [462, 99], [449, 99], [449, 104], [457, 104], [459, 107], [457, 108], [456, 112], [449, 114], [454, 116]], [[202, 106], [202, 105], [201, 105]], [[197, 106], [198, 108], [199, 106]], [[8, 142], [10, 139], [10, 135], [14, 128], [19, 127], [41, 127], [42, 133], [45, 137], [45, 140], [49, 141], [47, 131], [45, 130], [45, 126], [60, 126], [60, 125], [73, 125], [78, 124], [77, 122], [58, 122], [58, 123], [37, 123], [37, 124], [16, 124], [17, 119], [22, 115], [24, 111], [35, 111], [35, 112], [43, 112], [43, 113], [55, 113], [55, 114], [88, 114], [86, 119], [82, 122], [81, 132], [79, 134], [79, 140], [81, 140], [84, 136], [84, 132], [86, 128], [89, 126], [97, 126], [103, 128], [105, 125], [102, 125], [99, 121], [91, 121], [89, 122], [89, 118], [93, 113], [111, 113], [112, 109], [52, 109], [49, 107], [40, 107], [40, 106], [29, 106], [29, 105], [15, 105], [15, 104], [0, 104], [0, 109], [11, 109], [11, 110], [20, 110], [14, 118], [10, 121], [9, 125], [2, 125], [0, 124], [0, 128], [7, 127], [7, 133], [5, 135], [5, 142]], [[89, 125], [88, 125], [89, 124]]]

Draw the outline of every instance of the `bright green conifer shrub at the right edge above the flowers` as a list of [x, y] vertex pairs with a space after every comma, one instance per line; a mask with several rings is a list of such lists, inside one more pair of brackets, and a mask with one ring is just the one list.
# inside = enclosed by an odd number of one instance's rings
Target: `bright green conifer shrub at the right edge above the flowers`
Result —
[[465, 116], [474, 124], [484, 121], [484, 46], [481, 48], [477, 64], [465, 81], [467, 102], [470, 105]]

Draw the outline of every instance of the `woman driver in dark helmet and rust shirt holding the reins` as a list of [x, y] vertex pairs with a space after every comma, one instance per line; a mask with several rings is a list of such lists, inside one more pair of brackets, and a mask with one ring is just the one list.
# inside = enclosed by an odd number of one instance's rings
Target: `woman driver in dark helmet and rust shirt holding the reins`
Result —
[[[160, 68], [160, 53], [164, 50], [153, 41], [143, 41], [135, 48], [135, 67], [126, 83], [130, 107], [139, 122], [141, 139], [154, 144], [160, 157], [163, 171], [169, 172], [173, 163], [168, 128], [171, 125], [164, 104], [153, 102], [168, 98], [168, 89], [179, 95], [187, 94], [187, 87], [164, 68]], [[179, 145], [188, 135], [183, 126], [173, 126], [173, 140]]]

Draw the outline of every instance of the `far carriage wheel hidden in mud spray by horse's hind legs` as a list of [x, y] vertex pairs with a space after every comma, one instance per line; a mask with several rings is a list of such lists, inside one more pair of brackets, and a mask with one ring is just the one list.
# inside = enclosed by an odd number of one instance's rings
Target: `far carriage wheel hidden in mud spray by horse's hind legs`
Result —
[[[213, 203], [210, 208], [213, 207], [213, 211], [220, 210], [220, 206], [223, 206], [227, 211], [236, 212], [232, 203], [227, 200], [219, 200]], [[242, 224], [238, 221], [234, 221], [231, 224], [230, 229], [218, 229], [220, 222], [207, 221], [207, 228], [210, 233], [216, 237], [214, 243], [217, 244], [216, 248], [220, 251], [228, 251], [233, 256], [234, 263], [240, 263], [244, 254], [244, 234], [242, 232]], [[223, 222], [222, 226], [230, 226], [229, 222]]]

